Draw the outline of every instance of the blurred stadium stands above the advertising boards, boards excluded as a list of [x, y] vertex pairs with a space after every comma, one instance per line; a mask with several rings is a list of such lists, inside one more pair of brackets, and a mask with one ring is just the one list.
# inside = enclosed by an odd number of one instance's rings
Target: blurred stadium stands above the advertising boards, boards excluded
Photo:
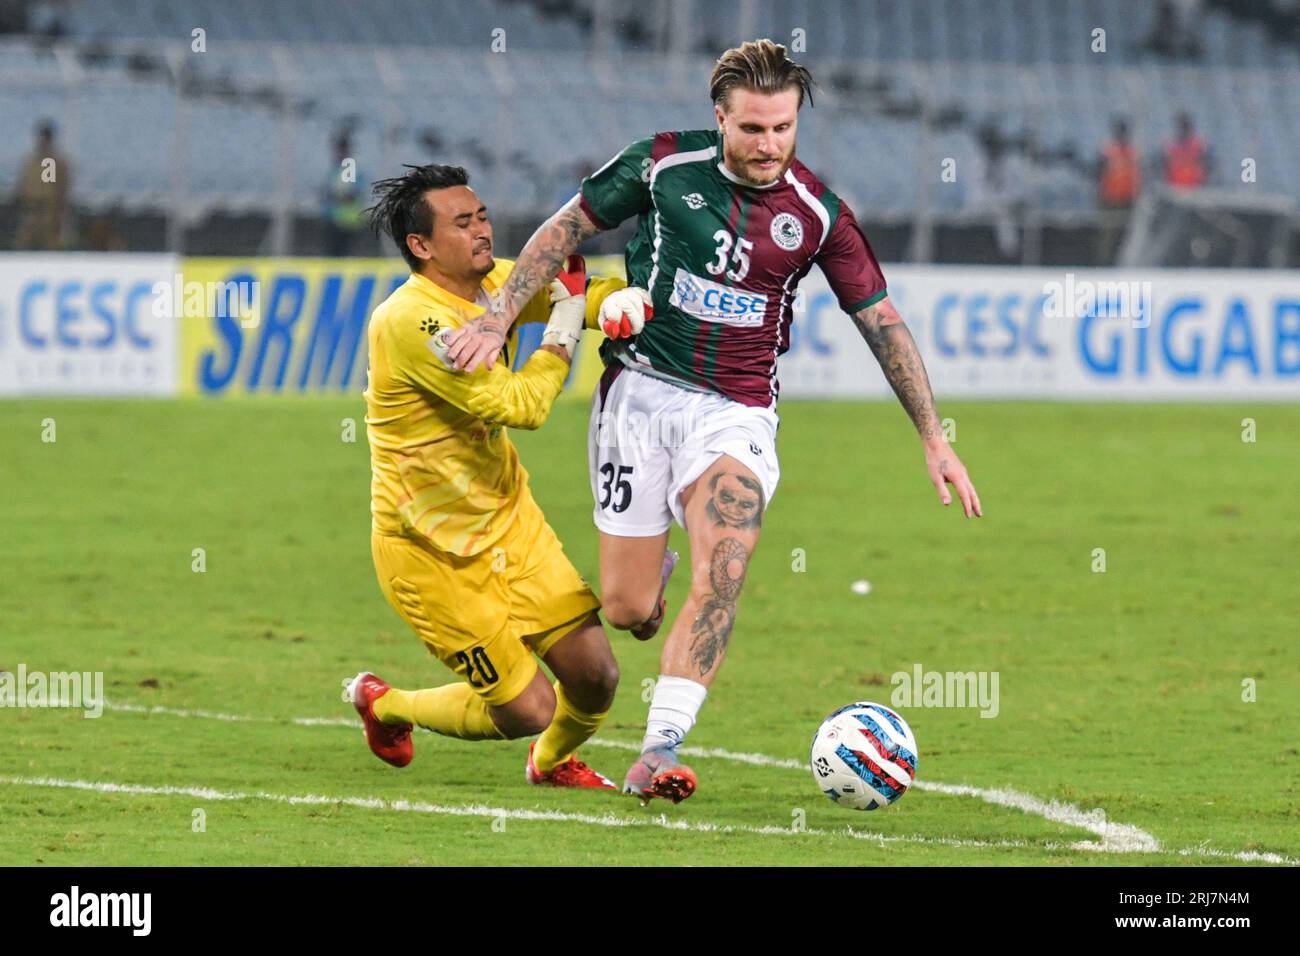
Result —
[[[768, 35], [822, 85], [801, 157], [883, 260], [1112, 264], [1130, 207], [1169, 198], [1186, 113], [1202, 182], [1138, 217], [1179, 235], [1127, 261], [1300, 261], [1296, 0], [5, 0], [0, 31], [10, 247], [387, 255], [338, 189], [351, 156], [358, 183], [465, 164], [515, 250], [629, 140], [710, 124], [712, 59]], [[1117, 120], [1141, 174], [1108, 202]], [[22, 230], [43, 121], [69, 170], [55, 237]]]

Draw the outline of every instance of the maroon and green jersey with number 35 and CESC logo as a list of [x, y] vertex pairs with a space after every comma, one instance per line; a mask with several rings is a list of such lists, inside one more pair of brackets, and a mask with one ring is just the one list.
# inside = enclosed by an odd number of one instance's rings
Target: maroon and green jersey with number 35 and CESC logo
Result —
[[796, 159], [771, 186], [723, 164], [718, 130], [658, 133], [582, 181], [582, 211], [612, 229], [637, 216], [628, 282], [650, 290], [654, 319], [607, 341], [621, 362], [744, 405], [776, 403], [776, 356], [789, 347], [800, 281], [822, 267], [850, 315], [885, 297], [853, 212]]

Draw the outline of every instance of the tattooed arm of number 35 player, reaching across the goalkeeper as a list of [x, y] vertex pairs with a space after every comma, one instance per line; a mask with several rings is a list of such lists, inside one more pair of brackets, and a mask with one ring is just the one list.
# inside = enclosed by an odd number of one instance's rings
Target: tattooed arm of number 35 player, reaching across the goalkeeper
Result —
[[564, 260], [598, 232], [601, 226], [582, 212], [577, 196], [542, 222], [515, 260], [506, 285], [493, 297], [491, 310], [447, 333], [447, 356], [455, 367], [473, 372], [486, 363], [491, 368], [519, 311], [555, 278]]

